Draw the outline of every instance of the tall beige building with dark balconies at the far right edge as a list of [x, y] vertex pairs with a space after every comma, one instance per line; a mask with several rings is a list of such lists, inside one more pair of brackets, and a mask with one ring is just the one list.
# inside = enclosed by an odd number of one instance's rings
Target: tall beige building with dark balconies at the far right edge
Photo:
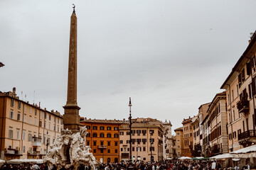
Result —
[[255, 77], [256, 36], [225, 79], [220, 89], [226, 90], [228, 108], [228, 147], [235, 151], [256, 142]]

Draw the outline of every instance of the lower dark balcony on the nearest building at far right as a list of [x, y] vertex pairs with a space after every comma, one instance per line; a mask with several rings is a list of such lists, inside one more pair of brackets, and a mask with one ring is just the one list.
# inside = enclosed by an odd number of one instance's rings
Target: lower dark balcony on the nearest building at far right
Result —
[[256, 142], [256, 130], [247, 130], [238, 134], [238, 142], [240, 145], [251, 145]]

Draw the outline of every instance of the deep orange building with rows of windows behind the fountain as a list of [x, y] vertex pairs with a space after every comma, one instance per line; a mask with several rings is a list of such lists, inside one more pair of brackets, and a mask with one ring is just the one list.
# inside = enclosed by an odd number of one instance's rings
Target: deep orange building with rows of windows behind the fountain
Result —
[[119, 128], [122, 121], [85, 118], [80, 123], [87, 128], [86, 145], [90, 146], [97, 161], [119, 162]]

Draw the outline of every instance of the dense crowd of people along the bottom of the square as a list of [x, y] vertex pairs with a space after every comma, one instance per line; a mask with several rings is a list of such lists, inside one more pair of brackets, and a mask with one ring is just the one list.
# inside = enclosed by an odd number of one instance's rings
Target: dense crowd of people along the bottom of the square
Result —
[[[0, 167], [0, 170], [57, 170], [57, 166], [48, 166], [47, 164], [3, 164]], [[74, 166], [70, 166], [68, 169], [65, 169], [63, 166], [60, 170], [73, 170]], [[91, 166], [80, 164], [78, 170], [91, 170]], [[218, 162], [137, 162], [134, 164], [129, 164], [128, 162], [120, 163], [107, 163], [100, 164], [97, 170], [225, 170], [222, 168]], [[247, 164], [239, 168], [230, 168], [235, 170], [248, 169], [250, 170], [250, 165]]]

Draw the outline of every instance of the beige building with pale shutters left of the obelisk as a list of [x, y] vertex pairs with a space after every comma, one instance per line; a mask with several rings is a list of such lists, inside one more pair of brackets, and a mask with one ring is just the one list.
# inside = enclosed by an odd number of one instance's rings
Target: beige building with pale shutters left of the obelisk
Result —
[[0, 92], [1, 159], [40, 159], [63, 129], [60, 113]]

